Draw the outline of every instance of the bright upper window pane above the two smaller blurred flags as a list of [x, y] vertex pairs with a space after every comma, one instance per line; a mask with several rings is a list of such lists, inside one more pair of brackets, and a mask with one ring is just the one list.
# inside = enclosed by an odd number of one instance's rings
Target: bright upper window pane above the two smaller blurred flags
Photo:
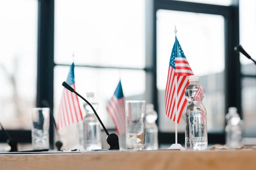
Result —
[[143, 68], [144, 34], [145, 0], [55, 0], [56, 63]]

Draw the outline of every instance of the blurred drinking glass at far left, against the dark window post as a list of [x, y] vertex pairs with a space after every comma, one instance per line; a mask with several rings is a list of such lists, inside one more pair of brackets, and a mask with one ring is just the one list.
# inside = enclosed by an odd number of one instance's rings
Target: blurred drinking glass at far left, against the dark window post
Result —
[[32, 109], [32, 147], [33, 149], [49, 148], [49, 108]]

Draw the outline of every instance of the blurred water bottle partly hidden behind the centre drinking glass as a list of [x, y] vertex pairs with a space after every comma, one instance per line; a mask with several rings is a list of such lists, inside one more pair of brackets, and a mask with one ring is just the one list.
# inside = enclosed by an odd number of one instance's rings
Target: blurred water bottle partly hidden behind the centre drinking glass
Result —
[[158, 127], [156, 124], [157, 112], [153, 104], [146, 105], [146, 150], [158, 150]]

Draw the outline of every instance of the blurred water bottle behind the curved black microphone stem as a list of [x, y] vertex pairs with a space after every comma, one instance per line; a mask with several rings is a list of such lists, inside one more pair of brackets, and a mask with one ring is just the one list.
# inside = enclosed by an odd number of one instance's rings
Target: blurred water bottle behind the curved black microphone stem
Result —
[[[93, 93], [87, 93], [87, 100], [95, 110], [98, 108], [98, 102], [94, 99]], [[100, 123], [93, 110], [87, 103], [84, 103], [85, 116], [83, 120], [84, 129], [84, 149], [97, 150], [102, 149]]]

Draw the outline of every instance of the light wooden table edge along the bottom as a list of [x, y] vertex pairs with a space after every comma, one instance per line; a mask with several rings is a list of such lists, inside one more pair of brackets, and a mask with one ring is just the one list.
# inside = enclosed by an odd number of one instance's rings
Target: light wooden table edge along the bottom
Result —
[[254, 170], [256, 150], [0, 155], [0, 170]]

